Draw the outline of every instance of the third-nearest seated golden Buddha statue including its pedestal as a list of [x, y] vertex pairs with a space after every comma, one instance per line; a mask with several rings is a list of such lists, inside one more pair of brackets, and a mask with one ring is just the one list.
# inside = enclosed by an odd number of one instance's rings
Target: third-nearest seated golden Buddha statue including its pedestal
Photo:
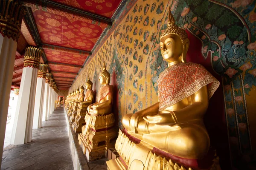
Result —
[[87, 89], [84, 95], [84, 101], [78, 103], [77, 115], [75, 121], [73, 122], [73, 129], [76, 133], [82, 132], [82, 126], [85, 125], [84, 116], [86, 115], [87, 107], [92, 104], [94, 99], [94, 92], [92, 90], [93, 82], [90, 81], [88, 76], [87, 82], [85, 83], [85, 88]]

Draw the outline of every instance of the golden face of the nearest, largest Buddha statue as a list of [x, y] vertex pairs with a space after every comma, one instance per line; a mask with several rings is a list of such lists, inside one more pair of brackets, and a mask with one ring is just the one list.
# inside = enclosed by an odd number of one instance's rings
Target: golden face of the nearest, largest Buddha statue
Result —
[[160, 49], [166, 62], [174, 62], [181, 59], [183, 43], [175, 34], [167, 34], [160, 39]]

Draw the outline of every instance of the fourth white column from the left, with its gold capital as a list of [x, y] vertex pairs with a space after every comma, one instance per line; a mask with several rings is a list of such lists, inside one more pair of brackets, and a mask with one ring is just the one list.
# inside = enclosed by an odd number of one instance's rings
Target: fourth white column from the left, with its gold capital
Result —
[[49, 105], [49, 83], [52, 75], [50, 73], [46, 74], [45, 88], [44, 88], [44, 106], [43, 106], [43, 121], [48, 120], [48, 105]]

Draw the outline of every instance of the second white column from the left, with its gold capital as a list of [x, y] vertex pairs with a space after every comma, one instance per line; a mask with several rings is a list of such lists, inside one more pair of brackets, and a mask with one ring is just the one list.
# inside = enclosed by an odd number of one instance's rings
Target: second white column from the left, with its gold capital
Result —
[[42, 50], [39, 48], [26, 48], [11, 144], [31, 142], [36, 80], [41, 54]]

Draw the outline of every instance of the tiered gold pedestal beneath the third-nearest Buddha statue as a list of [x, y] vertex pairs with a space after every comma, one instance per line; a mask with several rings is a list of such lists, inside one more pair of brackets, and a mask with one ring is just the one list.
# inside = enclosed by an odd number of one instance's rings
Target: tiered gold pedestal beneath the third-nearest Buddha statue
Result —
[[86, 108], [78, 108], [77, 109], [77, 115], [76, 115], [76, 119], [73, 122], [73, 130], [76, 133], [82, 133], [82, 126], [85, 125], [85, 120], [84, 117], [86, 115], [86, 111], [87, 111], [87, 107]]

